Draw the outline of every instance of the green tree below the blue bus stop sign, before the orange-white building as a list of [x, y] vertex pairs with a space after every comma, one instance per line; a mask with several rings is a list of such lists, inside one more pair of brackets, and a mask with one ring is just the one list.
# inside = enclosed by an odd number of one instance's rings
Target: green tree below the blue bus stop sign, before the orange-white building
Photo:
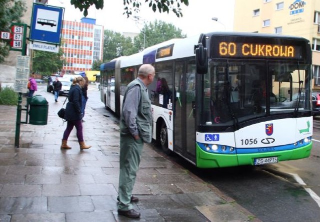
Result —
[[59, 52], [34, 51], [32, 58], [32, 71], [42, 75], [51, 75], [62, 69], [64, 64], [63, 50], [59, 48]]

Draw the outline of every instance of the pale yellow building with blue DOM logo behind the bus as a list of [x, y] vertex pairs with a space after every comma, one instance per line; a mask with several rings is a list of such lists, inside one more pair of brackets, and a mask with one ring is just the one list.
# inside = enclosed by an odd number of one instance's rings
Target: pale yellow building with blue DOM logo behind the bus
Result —
[[310, 41], [313, 89], [320, 90], [320, 0], [234, 2], [234, 31], [294, 35]]

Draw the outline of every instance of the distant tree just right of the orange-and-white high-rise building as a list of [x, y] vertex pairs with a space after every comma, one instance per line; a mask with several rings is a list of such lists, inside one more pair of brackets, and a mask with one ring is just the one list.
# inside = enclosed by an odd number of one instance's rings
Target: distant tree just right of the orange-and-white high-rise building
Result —
[[133, 48], [132, 39], [124, 37], [119, 32], [104, 30], [103, 36], [103, 61], [107, 62], [119, 56], [130, 55], [138, 52]]

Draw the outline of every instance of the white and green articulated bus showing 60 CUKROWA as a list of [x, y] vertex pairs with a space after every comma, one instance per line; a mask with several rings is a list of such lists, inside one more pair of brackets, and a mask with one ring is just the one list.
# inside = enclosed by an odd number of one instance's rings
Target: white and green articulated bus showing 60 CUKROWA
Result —
[[101, 65], [100, 95], [120, 115], [143, 63], [152, 139], [198, 168], [307, 158], [312, 148], [311, 49], [301, 37], [211, 32], [172, 39]]

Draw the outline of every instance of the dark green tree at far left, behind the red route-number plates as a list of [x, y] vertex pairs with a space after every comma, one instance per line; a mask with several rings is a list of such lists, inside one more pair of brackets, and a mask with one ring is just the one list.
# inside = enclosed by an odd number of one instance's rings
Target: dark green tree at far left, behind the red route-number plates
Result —
[[[9, 31], [12, 22], [21, 22], [25, 11], [24, 0], [0, 0], [0, 31]], [[9, 41], [0, 39], [0, 63], [9, 54]]]

